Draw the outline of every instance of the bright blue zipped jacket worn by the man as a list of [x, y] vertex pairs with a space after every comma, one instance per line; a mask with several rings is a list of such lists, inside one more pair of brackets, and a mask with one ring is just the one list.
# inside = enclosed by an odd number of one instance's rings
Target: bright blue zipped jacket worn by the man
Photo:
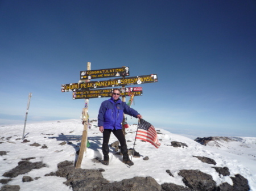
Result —
[[98, 112], [98, 126], [104, 126], [104, 129], [122, 129], [123, 113], [136, 118], [139, 114], [120, 99], [114, 102], [111, 97], [111, 99], [103, 101]]

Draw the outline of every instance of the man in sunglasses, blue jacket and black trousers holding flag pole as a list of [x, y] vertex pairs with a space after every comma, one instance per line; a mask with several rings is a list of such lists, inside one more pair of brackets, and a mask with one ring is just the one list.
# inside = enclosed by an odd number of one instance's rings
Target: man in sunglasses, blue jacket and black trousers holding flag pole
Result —
[[109, 165], [109, 138], [113, 133], [117, 137], [121, 145], [121, 153], [123, 154], [123, 163], [133, 165], [128, 156], [128, 149], [126, 145], [125, 135], [122, 131], [123, 113], [129, 114], [136, 118], [142, 118], [134, 109], [130, 108], [125, 102], [119, 99], [120, 90], [114, 89], [112, 97], [109, 100], [101, 103], [100, 111], [98, 112], [98, 126], [103, 133], [102, 152], [104, 160], [102, 164]]

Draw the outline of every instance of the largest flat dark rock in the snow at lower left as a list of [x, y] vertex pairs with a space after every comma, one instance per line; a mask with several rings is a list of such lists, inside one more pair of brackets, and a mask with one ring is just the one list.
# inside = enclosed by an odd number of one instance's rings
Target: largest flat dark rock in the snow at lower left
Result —
[[47, 167], [47, 165], [43, 162], [31, 163], [29, 161], [20, 161], [18, 166], [8, 172], [3, 173], [3, 176], [13, 178], [18, 175], [24, 175], [25, 173], [32, 171], [32, 169], [39, 169], [43, 167]]

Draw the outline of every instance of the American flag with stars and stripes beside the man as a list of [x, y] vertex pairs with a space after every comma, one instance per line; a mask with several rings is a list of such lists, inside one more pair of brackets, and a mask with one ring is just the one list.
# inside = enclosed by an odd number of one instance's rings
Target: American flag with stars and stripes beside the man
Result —
[[137, 135], [135, 139], [142, 139], [143, 141], [150, 142], [156, 148], [161, 145], [158, 141], [158, 134], [156, 133], [154, 126], [143, 119], [139, 120]]

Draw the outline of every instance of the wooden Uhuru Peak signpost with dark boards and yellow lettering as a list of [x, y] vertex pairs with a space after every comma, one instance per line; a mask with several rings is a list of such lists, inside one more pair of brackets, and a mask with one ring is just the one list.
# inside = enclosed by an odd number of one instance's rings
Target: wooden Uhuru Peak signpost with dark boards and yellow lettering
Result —
[[[142, 87], [125, 87], [136, 84], [154, 83], [158, 82], [156, 74], [141, 75], [137, 77], [128, 77], [130, 75], [129, 67], [118, 67], [112, 69], [90, 70], [90, 62], [87, 63], [87, 70], [80, 71], [79, 83], [69, 83], [61, 85], [61, 92], [72, 91], [73, 99], [85, 99], [85, 107], [82, 109], [82, 124], [84, 124], [84, 130], [82, 131], [82, 141], [79, 151], [79, 157], [76, 162], [75, 168], [81, 168], [82, 158], [86, 151], [86, 144], [88, 139], [88, 103], [90, 98], [98, 97], [111, 97], [114, 87], [122, 86], [121, 96], [122, 101], [125, 101], [125, 96], [141, 96]], [[101, 81], [90, 81], [94, 78], [109, 78], [109, 77], [122, 77]], [[112, 88], [106, 88], [112, 87]], [[103, 89], [98, 89], [103, 88]], [[123, 117], [125, 120], [125, 116]], [[125, 133], [125, 128], [122, 128]]]

